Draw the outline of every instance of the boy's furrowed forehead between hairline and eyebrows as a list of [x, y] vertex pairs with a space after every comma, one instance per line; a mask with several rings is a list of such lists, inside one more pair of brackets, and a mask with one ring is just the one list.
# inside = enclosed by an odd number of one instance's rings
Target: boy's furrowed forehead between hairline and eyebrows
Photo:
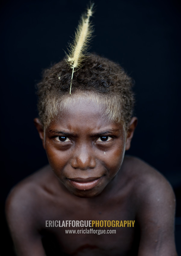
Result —
[[61, 111], [58, 111], [50, 126], [54, 126], [54, 129], [64, 128], [69, 131], [86, 129], [88, 133], [106, 129], [120, 130], [122, 125], [111, 121], [105, 115], [105, 109], [105, 105], [90, 97], [72, 97], [68, 104], [64, 104]]

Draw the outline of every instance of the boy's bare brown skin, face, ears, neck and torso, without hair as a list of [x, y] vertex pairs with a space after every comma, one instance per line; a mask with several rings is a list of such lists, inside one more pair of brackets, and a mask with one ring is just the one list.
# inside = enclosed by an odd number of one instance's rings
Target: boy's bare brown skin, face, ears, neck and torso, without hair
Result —
[[[59, 113], [45, 131], [37, 118], [34, 122], [50, 165], [19, 183], [7, 199], [17, 255], [44, 256], [42, 237], [45, 245], [53, 241], [50, 255], [177, 255], [169, 183], [142, 160], [124, 157], [136, 117], [125, 131], [84, 99]], [[65, 234], [68, 228], [45, 227], [46, 220], [135, 220], [135, 225], [104, 227], [116, 234], [98, 236]], [[53, 254], [55, 246], [59, 252]]]

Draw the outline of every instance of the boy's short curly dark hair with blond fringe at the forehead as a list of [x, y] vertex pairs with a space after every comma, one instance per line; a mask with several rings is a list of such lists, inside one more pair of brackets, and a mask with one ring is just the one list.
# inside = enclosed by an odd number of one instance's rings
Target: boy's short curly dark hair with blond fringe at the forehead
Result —
[[71, 95], [69, 94], [72, 70], [62, 60], [45, 69], [37, 84], [39, 120], [47, 127], [51, 120], [63, 110], [76, 95], [89, 97], [101, 109], [103, 116], [122, 122], [126, 128], [133, 115], [133, 80], [119, 64], [96, 54], [89, 55], [83, 66], [73, 74]]

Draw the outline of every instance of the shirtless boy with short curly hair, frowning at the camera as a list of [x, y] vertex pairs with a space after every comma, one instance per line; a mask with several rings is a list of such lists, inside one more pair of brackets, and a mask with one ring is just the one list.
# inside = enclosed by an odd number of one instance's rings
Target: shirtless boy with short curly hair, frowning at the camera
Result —
[[17, 255], [176, 256], [169, 183], [124, 156], [137, 124], [131, 78], [92, 54], [74, 73], [71, 95], [70, 83], [61, 61], [38, 84], [34, 123], [49, 165], [8, 197]]

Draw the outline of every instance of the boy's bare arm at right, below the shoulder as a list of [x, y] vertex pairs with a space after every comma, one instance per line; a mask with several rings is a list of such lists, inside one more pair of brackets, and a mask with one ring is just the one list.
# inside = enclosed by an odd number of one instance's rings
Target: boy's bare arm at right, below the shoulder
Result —
[[138, 256], [176, 256], [175, 195], [161, 174], [147, 179], [137, 195], [141, 231]]

